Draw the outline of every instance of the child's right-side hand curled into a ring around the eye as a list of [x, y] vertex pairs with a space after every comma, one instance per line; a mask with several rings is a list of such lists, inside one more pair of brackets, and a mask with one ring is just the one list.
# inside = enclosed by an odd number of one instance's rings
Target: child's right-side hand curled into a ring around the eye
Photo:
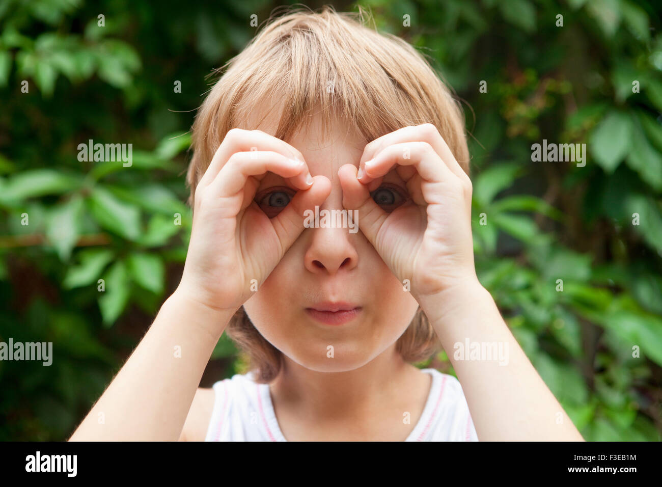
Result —
[[[390, 213], [370, 192], [395, 171], [410, 200]], [[343, 206], [356, 209], [361, 232], [412, 296], [434, 296], [475, 280], [471, 236], [471, 180], [436, 127], [426, 123], [381, 136], [365, 146], [357, 168], [338, 171]]]

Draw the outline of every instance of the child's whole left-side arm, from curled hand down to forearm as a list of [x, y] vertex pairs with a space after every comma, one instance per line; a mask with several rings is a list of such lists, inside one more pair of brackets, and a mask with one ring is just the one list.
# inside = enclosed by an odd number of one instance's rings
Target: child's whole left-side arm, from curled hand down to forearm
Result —
[[[266, 172], [301, 189], [273, 219], [254, 201], [256, 178]], [[195, 188], [177, 291], [70, 440], [187, 439], [187, 413], [228, 321], [250, 298], [253, 282], [261, 285], [299, 237], [305, 209], [328, 195], [327, 184], [316, 184], [326, 178], [308, 183], [307, 176], [303, 155], [287, 142], [261, 131], [228, 131]]]

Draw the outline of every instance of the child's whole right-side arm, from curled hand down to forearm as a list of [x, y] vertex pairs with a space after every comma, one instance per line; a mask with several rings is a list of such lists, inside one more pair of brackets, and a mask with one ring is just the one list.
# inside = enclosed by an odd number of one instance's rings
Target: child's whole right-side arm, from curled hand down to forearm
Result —
[[[481, 440], [581, 440], [481, 286], [473, 262], [472, 185], [438, 129], [404, 127], [365, 146], [359, 172], [340, 168], [343, 203], [358, 209], [359, 227], [426, 313], [446, 351], [455, 343], [501, 344], [507, 365], [455, 360]], [[369, 188], [397, 167], [410, 201], [383, 211]], [[557, 424], [557, 417], [562, 421]]]

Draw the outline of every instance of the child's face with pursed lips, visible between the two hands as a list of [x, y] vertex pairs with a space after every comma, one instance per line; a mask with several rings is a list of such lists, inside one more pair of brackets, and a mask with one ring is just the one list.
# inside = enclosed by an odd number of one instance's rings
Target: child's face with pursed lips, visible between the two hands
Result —
[[[265, 119], [260, 129], [275, 133], [270, 124], [271, 119]], [[320, 127], [316, 120], [288, 142], [301, 151], [312, 176], [326, 176], [331, 182], [320, 212], [342, 210], [338, 169], [348, 163], [358, 167], [369, 140], [342, 124], [336, 125], [331, 140], [322, 140]], [[395, 171], [385, 176], [383, 185], [407, 194]], [[270, 197], [275, 191], [283, 193]], [[269, 173], [260, 182], [256, 201], [269, 217], [275, 216], [294, 191], [283, 178]], [[388, 189], [381, 197], [398, 198]], [[357, 219], [360, 223], [360, 212]], [[261, 335], [291, 360], [318, 372], [344, 372], [383, 352], [393, 353], [418, 307], [403, 286], [360, 230], [306, 228], [244, 309]], [[307, 311], [322, 301], [347, 301], [361, 309], [351, 321], [330, 325]], [[333, 347], [332, 353], [328, 347]]]

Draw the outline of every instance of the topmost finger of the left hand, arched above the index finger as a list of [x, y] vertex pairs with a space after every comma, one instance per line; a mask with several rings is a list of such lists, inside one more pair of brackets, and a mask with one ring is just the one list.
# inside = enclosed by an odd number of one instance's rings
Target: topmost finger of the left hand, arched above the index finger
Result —
[[223, 138], [218, 149], [216, 149], [209, 167], [199, 182], [199, 186], [205, 187], [211, 184], [232, 154], [249, 151], [279, 152], [279, 154], [288, 158], [305, 160], [303, 154], [297, 148], [285, 142], [285, 140], [281, 140], [263, 131], [231, 129]]

